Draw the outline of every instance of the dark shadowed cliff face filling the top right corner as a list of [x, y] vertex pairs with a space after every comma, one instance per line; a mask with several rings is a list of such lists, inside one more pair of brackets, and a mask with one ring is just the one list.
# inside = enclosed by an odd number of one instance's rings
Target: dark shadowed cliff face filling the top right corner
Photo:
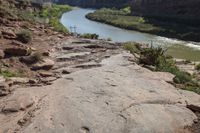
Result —
[[133, 14], [200, 21], [199, 0], [132, 0], [131, 5]]

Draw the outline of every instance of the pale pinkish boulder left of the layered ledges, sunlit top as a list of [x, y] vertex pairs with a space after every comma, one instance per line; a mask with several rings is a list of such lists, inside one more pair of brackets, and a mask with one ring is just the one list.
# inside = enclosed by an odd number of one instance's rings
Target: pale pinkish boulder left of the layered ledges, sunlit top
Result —
[[50, 70], [55, 62], [50, 59], [43, 59], [42, 61], [32, 65], [32, 70]]

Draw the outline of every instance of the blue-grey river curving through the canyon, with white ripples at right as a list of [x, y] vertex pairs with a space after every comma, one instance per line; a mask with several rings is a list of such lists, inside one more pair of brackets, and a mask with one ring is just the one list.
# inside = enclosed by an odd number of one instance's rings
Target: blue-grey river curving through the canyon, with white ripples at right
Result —
[[160, 37], [157, 35], [141, 33], [137, 31], [130, 31], [121, 28], [117, 28], [111, 25], [95, 22], [85, 18], [85, 15], [94, 12], [93, 9], [82, 9], [78, 8], [70, 12], [66, 12], [62, 15], [61, 23], [70, 29], [70, 27], [76, 27], [76, 32], [83, 33], [96, 33], [101, 39], [111, 38], [112, 41], [116, 42], [126, 42], [135, 41], [140, 43], [150, 43], [159, 45], [169, 45], [169, 44], [181, 44], [195, 49], [200, 49], [200, 43], [196, 42], [186, 42], [176, 39], [170, 39], [166, 37]]

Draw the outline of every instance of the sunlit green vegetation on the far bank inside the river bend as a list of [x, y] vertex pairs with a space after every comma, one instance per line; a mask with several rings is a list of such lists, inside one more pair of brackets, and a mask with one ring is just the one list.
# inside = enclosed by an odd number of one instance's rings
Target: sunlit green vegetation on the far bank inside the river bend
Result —
[[142, 32], [151, 32], [160, 30], [158, 27], [145, 23], [143, 17], [129, 16], [129, 11], [127, 9], [100, 9], [94, 13], [89, 13], [86, 15], [87, 18], [107, 24], [111, 24], [117, 27], [138, 30]]

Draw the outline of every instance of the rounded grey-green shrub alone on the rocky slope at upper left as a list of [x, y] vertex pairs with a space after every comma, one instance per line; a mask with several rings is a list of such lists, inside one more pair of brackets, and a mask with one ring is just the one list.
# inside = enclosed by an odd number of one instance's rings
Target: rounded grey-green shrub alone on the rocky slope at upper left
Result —
[[32, 34], [28, 30], [22, 30], [17, 33], [17, 40], [23, 43], [29, 43], [32, 40]]

